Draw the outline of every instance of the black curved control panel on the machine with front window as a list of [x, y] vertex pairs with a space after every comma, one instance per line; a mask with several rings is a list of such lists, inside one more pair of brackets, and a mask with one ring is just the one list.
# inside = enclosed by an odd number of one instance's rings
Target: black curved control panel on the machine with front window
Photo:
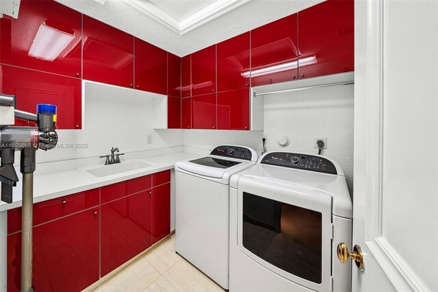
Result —
[[272, 152], [266, 154], [261, 163], [264, 165], [276, 165], [277, 167], [337, 174], [336, 167], [330, 160], [307, 154]]

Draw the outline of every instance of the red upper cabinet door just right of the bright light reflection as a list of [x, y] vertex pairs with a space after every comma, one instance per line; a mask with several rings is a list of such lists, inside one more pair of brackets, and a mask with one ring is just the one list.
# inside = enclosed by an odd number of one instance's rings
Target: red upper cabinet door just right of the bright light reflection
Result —
[[83, 79], [133, 87], [133, 36], [83, 15]]

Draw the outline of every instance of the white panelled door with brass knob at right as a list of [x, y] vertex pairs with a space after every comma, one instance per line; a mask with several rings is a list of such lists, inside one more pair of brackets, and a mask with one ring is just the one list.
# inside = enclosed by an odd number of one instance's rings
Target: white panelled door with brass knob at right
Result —
[[438, 1], [355, 1], [355, 36], [352, 290], [438, 291]]

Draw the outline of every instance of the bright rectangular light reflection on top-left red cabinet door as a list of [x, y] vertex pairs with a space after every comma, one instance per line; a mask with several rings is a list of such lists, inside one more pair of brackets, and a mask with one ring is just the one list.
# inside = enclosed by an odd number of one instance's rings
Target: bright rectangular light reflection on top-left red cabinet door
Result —
[[27, 55], [53, 62], [74, 38], [75, 34], [68, 34], [49, 27], [44, 21], [40, 25]]

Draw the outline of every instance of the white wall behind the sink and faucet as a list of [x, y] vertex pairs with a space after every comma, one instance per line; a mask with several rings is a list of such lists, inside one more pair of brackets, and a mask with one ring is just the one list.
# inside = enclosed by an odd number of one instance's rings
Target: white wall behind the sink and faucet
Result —
[[[37, 162], [106, 155], [111, 147], [129, 153], [183, 144], [182, 130], [153, 129], [154, 98], [165, 96], [94, 82], [84, 82], [83, 86], [83, 130], [58, 130], [57, 147], [38, 151]], [[153, 136], [152, 144], [146, 143], [147, 135]], [[68, 143], [85, 143], [88, 147], [62, 148]]]

